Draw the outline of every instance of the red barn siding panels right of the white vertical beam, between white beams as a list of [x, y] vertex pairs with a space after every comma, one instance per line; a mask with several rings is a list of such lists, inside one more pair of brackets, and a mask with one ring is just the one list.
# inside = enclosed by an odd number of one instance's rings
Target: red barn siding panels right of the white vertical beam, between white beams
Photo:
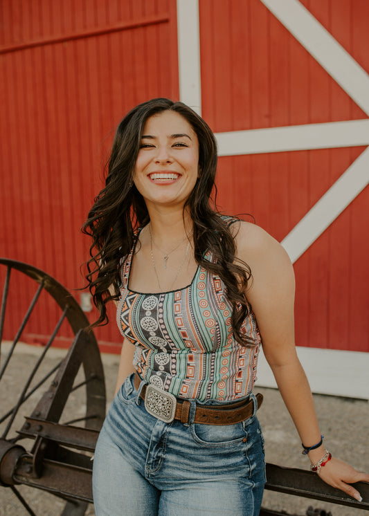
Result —
[[[369, 71], [369, 3], [301, 3]], [[259, 0], [201, 0], [202, 113], [215, 131], [368, 118]], [[222, 157], [218, 201], [282, 240], [364, 147]], [[369, 188], [295, 264], [296, 342], [369, 351]]]

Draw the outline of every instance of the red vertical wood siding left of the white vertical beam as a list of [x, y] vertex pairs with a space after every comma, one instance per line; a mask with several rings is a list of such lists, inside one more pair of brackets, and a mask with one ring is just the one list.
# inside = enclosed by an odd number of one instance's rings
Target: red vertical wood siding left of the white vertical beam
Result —
[[[115, 127], [138, 102], [179, 95], [175, 0], [4, 0], [1, 19], [0, 255], [46, 270], [79, 297], [89, 246], [80, 226]], [[6, 338], [33, 296], [28, 282], [20, 288]], [[24, 340], [50, 331], [42, 314], [53, 308], [40, 306]], [[114, 323], [97, 334], [121, 341]]]

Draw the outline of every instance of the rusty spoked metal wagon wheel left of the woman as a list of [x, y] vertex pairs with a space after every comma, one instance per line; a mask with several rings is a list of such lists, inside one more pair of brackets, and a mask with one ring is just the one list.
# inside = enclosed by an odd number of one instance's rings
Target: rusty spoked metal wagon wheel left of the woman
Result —
[[[53, 277], [28, 264], [1, 258], [0, 273], [0, 342], [6, 315], [11, 318], [12, 306], [26, 297], [25, 282], [28, 290], [33, 288], [33, 298], [24, 307], [24, 318], [12, 342], [1, 344], [5, 353], [0, 363], [0, 389], [6, 399], [0, 410], [0, 489], [10, 488], [33, 516], [35, 512], [16, 487], [19, 484], [66, 499], [62, 515], [82, 516], [91, 501], [91, 455], [105, 418], [105, 380], [96, 338], [84, 331], [89, 324], [86, 315]], [[52, 324], [45, 308], [50, 303], [51, 313], [55, 313]], [[39, 356], [25, 365], [19, 362], [17, 350], [24, 345], [21, 338], [27, 334], [27, 326], [40, 318], [52, 328], [50, 337], [42, 347], [29, 347], [33, 353], [39, 350]], [[55, 351], [50, 349], [65, 326], [75, 337], [64, 358], [55, 360]], [[21, 388], [15, 387], [15, 382]]]

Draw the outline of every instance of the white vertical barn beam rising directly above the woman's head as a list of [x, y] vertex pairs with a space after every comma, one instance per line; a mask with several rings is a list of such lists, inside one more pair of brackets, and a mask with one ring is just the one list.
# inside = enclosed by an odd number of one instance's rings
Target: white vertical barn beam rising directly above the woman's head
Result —
[[177, 0], [179, 98], [201, 115], [199, 0]]

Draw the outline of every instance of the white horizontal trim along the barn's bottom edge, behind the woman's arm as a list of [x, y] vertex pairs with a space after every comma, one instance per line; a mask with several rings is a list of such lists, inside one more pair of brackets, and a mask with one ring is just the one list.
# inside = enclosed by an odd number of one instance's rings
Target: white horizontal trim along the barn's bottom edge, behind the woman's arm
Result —
[[[369, 353], [296, 347], [312, 392], [369, 399]], [[256, 386], [277, 387], [271, 368], [260, 351]]]

